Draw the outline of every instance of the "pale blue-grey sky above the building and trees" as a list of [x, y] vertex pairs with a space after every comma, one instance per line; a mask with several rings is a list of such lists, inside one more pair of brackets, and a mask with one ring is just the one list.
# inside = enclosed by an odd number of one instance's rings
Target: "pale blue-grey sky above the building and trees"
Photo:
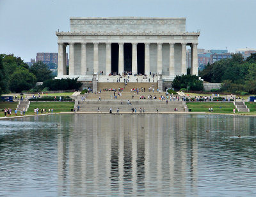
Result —
[[58, 52], [70, 17], [185, 17], [198, 48], [256, 48], [256, 0], [0, 0], [0, 54]]

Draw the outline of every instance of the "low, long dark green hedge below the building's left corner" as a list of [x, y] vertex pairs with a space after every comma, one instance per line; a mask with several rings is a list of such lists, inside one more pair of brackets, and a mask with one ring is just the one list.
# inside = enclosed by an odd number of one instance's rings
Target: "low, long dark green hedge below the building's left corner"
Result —
[[56, 80], [47, 80], [44, 82], [43, 86], [48, 87], [50, 91], [64, 91], [79, 89], [82, 82], [77, 82], [77, 78], [61, 78]]

